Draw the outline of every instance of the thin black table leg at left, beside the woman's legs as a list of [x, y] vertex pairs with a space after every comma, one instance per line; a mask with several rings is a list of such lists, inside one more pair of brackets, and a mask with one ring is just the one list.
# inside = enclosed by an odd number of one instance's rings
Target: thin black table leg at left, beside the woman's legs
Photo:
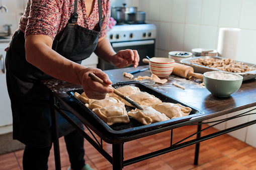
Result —
[[56, 168], [56, 170], [61, 170], [60, 153], [59, 153], [59, 135], [58, 135], [58, 123], [57, 123], [57, 111], [54, 109], [55, 104], [56, 104], [55, 97], [50, 95], [52, 141], [53, 141], [53, 147], [54, 147], [55, 168]]

